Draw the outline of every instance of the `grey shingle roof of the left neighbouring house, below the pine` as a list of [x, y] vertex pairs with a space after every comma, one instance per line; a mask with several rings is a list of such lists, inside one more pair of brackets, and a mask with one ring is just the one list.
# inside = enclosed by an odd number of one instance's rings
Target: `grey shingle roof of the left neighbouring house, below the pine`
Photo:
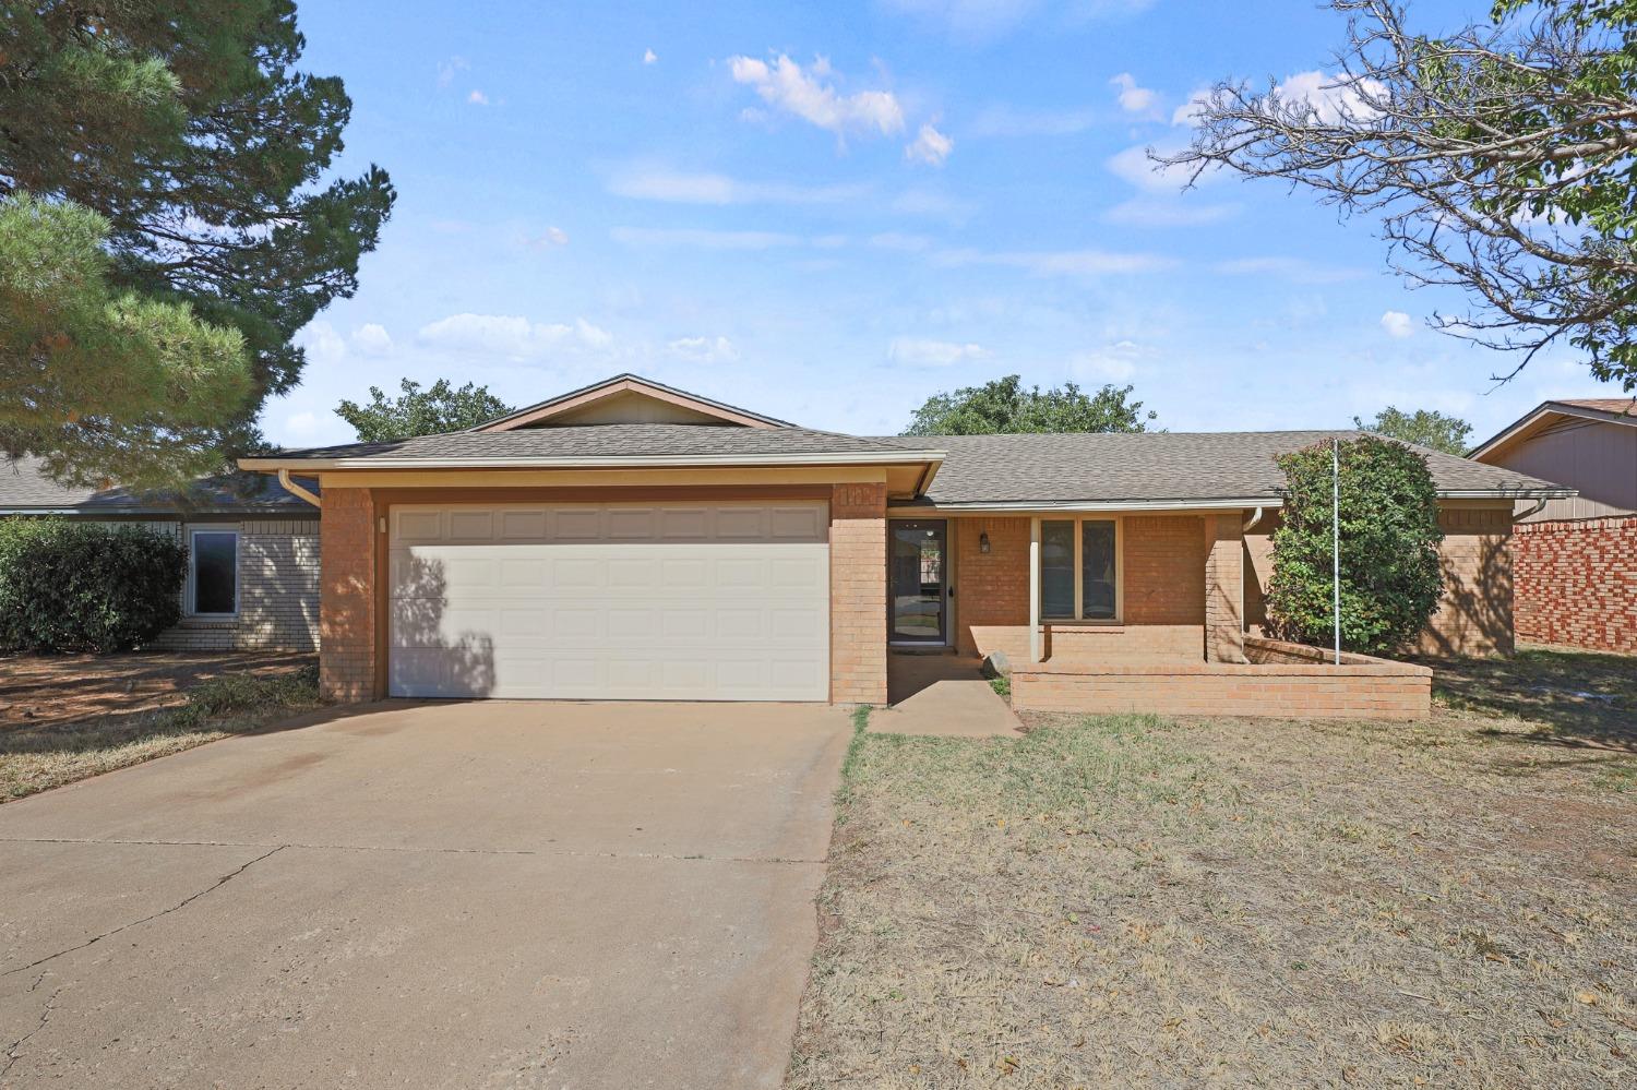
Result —
[[[318, 481], [303, 480], [318, 491]], [[213, 512], [318, 511], [291, 496], [265, 475], [214, 476], [193, 484], [185, 498], [139, 494], [123, 488], [97, 489], [59, 484], [39, 471], [38, 458], [0, 458], [0, 511], [85, 511], [106, 514], [147, 514], [206, 509]]]

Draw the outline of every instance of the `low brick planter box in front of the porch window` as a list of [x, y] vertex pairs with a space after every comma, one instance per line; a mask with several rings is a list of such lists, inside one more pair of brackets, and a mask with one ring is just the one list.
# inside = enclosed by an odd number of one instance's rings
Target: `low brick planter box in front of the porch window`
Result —
[[1036, 712], [1154, 712], [1269, 718], [1424, 718], [1432, 671], [1367, 655], [1246, 637], [1249, 663], [1118, 663], [1012, 671], [1012, 705]]

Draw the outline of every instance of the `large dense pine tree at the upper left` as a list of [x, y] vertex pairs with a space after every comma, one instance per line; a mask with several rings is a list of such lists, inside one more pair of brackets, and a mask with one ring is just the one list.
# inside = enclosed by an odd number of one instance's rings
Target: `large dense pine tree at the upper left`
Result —
[[175, 484], [259, 444], [291, 336], [357, 286], [386, 173], [291, 0], [0, 5], [0, 450]]

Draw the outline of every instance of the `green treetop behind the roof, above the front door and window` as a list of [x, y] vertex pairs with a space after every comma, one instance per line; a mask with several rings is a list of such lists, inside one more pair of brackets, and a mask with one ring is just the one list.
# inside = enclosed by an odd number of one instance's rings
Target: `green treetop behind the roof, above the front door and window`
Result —
[[933, 394], [915, 409], [905, 435], [997, 435], [1018, 432], [1144, 432], [1154, 412], [1131, 401], [1131, 386], [1085, 393], [1074, 383], [1061, 388], [1023, 388], [1007, 375], [982, 386]]

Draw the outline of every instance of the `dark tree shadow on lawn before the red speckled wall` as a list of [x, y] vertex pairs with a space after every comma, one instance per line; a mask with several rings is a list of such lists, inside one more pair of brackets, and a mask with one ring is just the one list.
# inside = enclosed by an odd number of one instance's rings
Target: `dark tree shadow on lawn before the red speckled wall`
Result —
[[1450, 710], [1536, 727], [1483, 736], [1637, 753], [1637, 656], [1529, 646], [1511, 658], [1427, 664], [1432, 694]]

